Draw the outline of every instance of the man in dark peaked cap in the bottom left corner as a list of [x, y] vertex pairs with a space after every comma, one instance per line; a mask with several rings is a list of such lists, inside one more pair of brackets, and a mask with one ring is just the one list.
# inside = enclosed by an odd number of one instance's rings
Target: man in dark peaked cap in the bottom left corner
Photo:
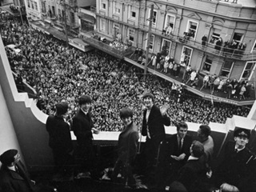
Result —
[[6, 150], [0, 156], [0, 189], [4, 192], [34, 192], [34, 182], [30, 180], [25, 166], [20, 161], [18, 150]]

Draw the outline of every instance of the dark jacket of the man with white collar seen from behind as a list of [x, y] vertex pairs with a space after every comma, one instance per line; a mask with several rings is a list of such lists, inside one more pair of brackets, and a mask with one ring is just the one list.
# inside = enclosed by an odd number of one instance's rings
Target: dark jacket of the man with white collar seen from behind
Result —
[[181, 182], [188, 191], [206, 191], [202, 181], [206, 179], [206, 166], [199, 160], [189, 160], [178, 174]]

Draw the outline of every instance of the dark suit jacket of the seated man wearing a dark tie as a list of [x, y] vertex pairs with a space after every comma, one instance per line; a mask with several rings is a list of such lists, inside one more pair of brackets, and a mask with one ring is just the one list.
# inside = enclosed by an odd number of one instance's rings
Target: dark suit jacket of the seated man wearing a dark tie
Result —
[[192, 137], [188, 134], [186, 134], [183, 145], [182, 145], [182, 150], [178, 149], [178, 138], [177, 134], [173, 134], [170, 138], [166, 140], [166, 159], [169, 162], [175, 161], [173, 158], [170, 158], [170, 155], [175, 155], [179, 156], [180, 154], [186, 154], [186, 157], [181, 161], [184, 165], [187, 161], [187, 159], [190, 157], [190, 146], [192, 144]]

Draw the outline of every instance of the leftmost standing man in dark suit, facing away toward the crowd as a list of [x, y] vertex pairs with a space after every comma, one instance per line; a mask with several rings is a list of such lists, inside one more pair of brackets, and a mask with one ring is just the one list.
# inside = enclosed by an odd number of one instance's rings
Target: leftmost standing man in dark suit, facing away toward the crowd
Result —
[[56, 104], [56, 113], [49, 115], [46, 121], [46, 130], [49, 133], [49, 146], [54, 154], [55, 177], [57, 179], [69, 179], [71, 174], [73, 144], [70, 136], [70, 126], [64, 116], [68, 110], [66, 102]]

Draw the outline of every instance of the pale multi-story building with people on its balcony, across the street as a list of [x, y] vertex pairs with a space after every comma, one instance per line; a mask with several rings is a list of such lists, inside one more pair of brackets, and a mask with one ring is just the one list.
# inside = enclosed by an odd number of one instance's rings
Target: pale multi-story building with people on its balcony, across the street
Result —
[[128, 38], [143, 50], [150, 41], [150, 54], [168, 54], [200, 74], [252, 82], [256, 77], [254, 1], [97, 0], [96, 30], [112, 39], [121, 34], [123, 42]]

